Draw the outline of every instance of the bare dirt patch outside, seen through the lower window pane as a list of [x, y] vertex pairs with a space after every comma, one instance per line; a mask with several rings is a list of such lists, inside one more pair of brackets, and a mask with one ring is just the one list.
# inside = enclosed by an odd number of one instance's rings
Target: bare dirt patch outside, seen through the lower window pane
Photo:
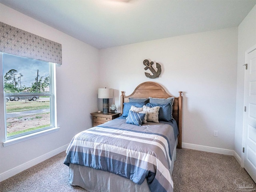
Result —
[[50, 124], [50, 113], [28, 115], [23, 116], [22, 118], [8, 118], [6, 123], [7, 133], [12, 133], [15, 131]]

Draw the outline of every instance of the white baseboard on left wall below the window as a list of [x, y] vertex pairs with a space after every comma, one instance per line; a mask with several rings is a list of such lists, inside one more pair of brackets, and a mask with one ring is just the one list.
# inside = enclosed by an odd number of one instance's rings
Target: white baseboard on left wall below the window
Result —
[[6, 171], [6, 172], [3, 172], [2, 174], [0, 174], [0, 182], [3, 181], [3, 180], [6, 180], [6, 179], [8, 179], [8, 178], [10, 178], [10, 177], [12, 177], [12, 176], [14, 176], [16, 174], [18, 174], [18, 173], [20, 173], [20, 172], [22, 172], [24, 170], [26, 170], [26, 169], [28, 169], [28, 168], [30, 168], [30, 167], [38, 164], [38, 163], [41, 163], [41, 162], [47, 160], [48, 158], [51, 158], [51, 157], [53, 157], [53, 156], [55, 156], [55, 155], [65, 151], [67, 148], [68, 148], [68, 144], [66, 144], [66, 145], [64, 145], [64, 146], [62, 146], [60, 148], [57, 148], [56, 150], [48, 152], [48, 153], [46, 153], [46, 154], [44, 154], [42, 156], [34, 158], [34, 159], [32, 159], [32, 160], [30, 160], [30, 161], [28, 161], [28, 162], [26, 162], [24, 164], [21, 164], [21, 165], [19, 165], [17, 167], [14, 167], [14, 168]]

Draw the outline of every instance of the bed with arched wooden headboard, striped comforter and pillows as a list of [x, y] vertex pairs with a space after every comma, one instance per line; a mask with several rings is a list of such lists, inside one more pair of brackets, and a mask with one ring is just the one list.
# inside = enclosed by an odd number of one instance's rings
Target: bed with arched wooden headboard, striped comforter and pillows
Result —
[[121, 93], [120, 118], [70, 142], [64, 160], [70, 184], [90, 192], [172, 192], [182, 144], [182, 92], [174, 97], [160, 84], [144, 82], [128, 96]]

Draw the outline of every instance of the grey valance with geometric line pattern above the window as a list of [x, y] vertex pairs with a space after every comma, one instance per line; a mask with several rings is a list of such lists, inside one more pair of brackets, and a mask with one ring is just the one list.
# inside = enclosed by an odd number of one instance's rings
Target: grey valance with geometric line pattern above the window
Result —
[[62, 64], [61, 44], [0, 22], [0, 52]]

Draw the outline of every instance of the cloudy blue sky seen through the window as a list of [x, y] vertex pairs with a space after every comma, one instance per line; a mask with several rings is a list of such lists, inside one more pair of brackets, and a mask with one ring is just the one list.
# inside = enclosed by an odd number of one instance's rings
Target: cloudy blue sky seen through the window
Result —
[[[11, 54], [3, 54], [3, 65], [4, 65], [4, 74], [12, 69], [17, 70], [17, 78], [21, 73], [23, 76], [21, 77], [21, 86], [24, 85], [26, 87], [30, 87], [33, 82], [36, 80], [37, 70], [38, 70], [38, 79], [43, 76], [44, 78], [49, 76], [49, 62], [44, 62], [35, 59], [29, 59], [20, 56], [14, 56]], [[17, 79], [18, 81], [18, 79]], [[19, 84], [20, 86], [20, 84]]]

